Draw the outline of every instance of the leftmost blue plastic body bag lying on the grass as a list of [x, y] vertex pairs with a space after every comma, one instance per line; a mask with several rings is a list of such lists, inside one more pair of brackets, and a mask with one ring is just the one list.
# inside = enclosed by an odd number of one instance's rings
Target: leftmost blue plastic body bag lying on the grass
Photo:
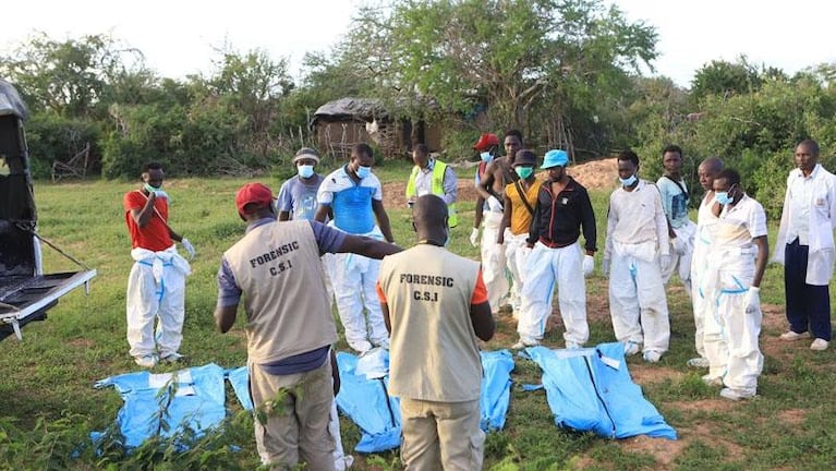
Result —
[[[129, 448], [153, 436], [171, 437], [184, 427], [199, 436], [226, 416], [223, 369], [214, 363], [166, 374], [128, 373], [95, 384], [96, 388], [108, 386], [116, 387], [124, 400], [117, 424]], [[90, 435], [97, 442], [101, 433]]]

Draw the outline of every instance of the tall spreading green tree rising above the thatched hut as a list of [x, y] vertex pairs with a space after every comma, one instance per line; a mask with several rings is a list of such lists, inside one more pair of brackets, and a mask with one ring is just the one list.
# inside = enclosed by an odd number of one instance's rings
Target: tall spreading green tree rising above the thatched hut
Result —
[[428, 95], [445, 113], [484, 102], [492, 128], [589, 111], [656, 57], [653, 27], [598, 0], [397, 1], [361, 10], [347, 40], [395, 101]]

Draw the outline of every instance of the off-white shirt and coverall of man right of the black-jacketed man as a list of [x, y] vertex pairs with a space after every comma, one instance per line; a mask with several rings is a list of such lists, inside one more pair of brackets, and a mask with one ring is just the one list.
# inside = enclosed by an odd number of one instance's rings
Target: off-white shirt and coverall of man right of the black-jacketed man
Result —
[[664, 353], [670, 340], [659, 255], [668, 255], [668, 226], [655, 185], [641, 180], [609, 197], [607, 242], [609, 312], [618, 341]]

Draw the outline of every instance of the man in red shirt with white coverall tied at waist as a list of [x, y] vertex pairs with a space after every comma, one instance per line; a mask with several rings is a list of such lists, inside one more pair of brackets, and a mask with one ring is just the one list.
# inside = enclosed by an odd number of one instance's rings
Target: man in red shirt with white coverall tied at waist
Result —
[[[185, 277], [189, 262], [178, 254], [174, 242], [194, 256], [194, 246], [168, 225], [168, 194], [162, 188], [162, 166], [146, 164], [143, 186], [125, 193], [122, 204], [131, 234], [128, 277], [128, 343], [136, 364], [154, 367], [158, 361], [178, 362], [183, 340]], [[158, 318], [154, 333], [154, 319]]]

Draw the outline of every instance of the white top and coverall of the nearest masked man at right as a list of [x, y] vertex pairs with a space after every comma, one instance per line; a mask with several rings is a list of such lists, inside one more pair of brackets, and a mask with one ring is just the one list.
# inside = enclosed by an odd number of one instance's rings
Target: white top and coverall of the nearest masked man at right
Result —
[[706, 298], [714, 306], [704, 319], [708, 377], [722, 377], [727, 387], [744, 396], [754, 396], [763, 370], [758, 346], [760, 303], [755, 312], [746, 312], [758, 254], [752, 239], [761, 235], [766, 235], [766, 215], [760, 203], [743, 196], [735, 207], [724, 207], [704, 276]]

